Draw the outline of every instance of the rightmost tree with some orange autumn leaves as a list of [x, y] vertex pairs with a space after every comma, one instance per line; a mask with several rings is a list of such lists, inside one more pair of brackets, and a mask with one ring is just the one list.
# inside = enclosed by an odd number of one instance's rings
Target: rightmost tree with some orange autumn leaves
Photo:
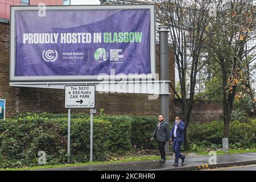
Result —
[[[209, 26], [216, 27], [210, 36], [208, 52], [221, 70], [222, 101], [224, 115], [224, 138], [229, 138], [230, 119], [237, 93], [245, 72], [246, 56], [255, 45], [246, 49], [246, 44], [255, 40], [255, 6], [251, 0], [214, 1], [216, 17]], [[247, 64], [249, 65], [249, 64]]]

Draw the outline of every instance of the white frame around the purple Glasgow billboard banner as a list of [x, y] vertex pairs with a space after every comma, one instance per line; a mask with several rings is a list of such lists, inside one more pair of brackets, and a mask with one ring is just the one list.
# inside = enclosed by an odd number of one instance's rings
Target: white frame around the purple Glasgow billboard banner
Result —
[[[16, 42], [15, 42], [15, 11], [34, 10], [38, 11], [39, 6], [11, 6], [10, 19], [10, 82], [42, 82], [42, 81], [97, 81], [98, 75], [93, 76], [15, 76], [15, 60], [16, 60]], [[155, 79], [156, 74], [156, 53], [155, 53], [155, 5], [74, 5], [74, 6], [46, 6], [47, 10], [136, 10], [149, 9], [150, 10], [150, 64], [151, 73], [147, 78]], [[115, 75], [112, 79], [122, 79], [122, 75]], [[129, 80], [141, 78], [139, 75], [129, 76]]]

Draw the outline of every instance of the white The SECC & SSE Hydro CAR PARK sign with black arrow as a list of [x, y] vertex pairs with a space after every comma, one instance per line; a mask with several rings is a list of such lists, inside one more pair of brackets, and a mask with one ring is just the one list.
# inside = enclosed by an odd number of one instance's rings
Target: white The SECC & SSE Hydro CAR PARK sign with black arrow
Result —
[[65, 108], [94, 108], [95, 85], [66, 85]]

